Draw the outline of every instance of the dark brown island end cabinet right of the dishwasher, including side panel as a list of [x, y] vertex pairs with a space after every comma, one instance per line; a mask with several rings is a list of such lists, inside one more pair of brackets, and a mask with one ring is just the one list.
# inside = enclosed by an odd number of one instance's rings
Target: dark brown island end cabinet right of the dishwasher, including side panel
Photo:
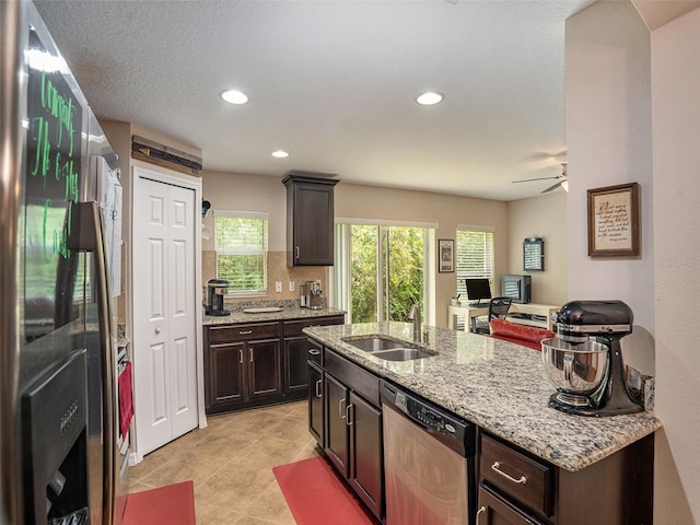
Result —
[[650, 525], [654, 435], [578, 471], [481, 434], [476, 525]]

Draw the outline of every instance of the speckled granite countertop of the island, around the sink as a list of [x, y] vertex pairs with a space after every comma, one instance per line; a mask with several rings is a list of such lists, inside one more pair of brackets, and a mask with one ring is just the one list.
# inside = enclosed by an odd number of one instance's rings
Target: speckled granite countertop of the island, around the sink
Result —
[[408, 323], [319, 326], [304, 332], [360, 365], [567, 470], [581, 470], [653, 433], [651, 412], [593, 418], [548, 406], [555, 392], [537, 350], [476, 334], [424, 327], [434, 355], [388, 362], [342, 339], [386, 335], [410, 341]]

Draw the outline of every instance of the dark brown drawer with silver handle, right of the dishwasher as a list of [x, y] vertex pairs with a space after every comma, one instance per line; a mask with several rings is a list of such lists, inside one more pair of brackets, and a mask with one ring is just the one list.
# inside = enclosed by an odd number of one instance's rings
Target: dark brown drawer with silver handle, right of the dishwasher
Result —
[[530, 509], [551, 515], [553, 467], [482, 434], [479, 475]]

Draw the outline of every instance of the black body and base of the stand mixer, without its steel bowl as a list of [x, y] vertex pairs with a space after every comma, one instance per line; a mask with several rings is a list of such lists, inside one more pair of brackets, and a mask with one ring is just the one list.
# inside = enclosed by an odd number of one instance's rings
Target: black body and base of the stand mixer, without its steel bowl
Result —
[[[643, 410], [625, 378], [626, 369], [620, 348], [620, 339], [632, 332], [632, 311], [622, 301], [572, 301], [555, 314], [557, 332], [572, 348], [573, 352], [570, 353], [575, 353], [578, 345], [596, 341], [598, 346], [607, 348], [608, 359], [605, 374], [594, 392], [580, 395], [558, 387], [559, 392], [550, 397], [551, 407], [568, 413], [595, 417]], [[544, 352], [567, 352], [551, 347], [546, 350], [545, 342], [542, 341]], [[545, 365], [548, 366], [547, 358], [545, 360]]]

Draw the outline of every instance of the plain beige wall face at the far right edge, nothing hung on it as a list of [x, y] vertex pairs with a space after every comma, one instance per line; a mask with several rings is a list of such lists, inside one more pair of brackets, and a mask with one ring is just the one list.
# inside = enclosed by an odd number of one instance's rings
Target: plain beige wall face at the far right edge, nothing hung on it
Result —
[[700, 522], [700, 9], [652, 33], [656, 523]]

